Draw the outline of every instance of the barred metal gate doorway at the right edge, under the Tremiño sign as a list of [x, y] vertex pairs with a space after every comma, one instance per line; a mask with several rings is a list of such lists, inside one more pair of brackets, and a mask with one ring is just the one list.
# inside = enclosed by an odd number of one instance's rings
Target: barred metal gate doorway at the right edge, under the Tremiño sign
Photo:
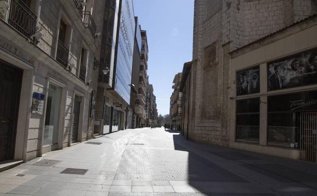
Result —
[[317, 162], [317, 112], [300, 114], [301, 159]]

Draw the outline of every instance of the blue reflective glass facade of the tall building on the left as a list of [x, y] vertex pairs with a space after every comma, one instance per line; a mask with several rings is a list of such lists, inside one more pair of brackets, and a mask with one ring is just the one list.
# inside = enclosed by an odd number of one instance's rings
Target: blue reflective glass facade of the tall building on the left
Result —
[[135, 19], [131, 0], [122, 0], [118, 48], [116, 55], [114, 90], [130, 103], [130, 83], [132, 76], [133, 48], [134, 48]]

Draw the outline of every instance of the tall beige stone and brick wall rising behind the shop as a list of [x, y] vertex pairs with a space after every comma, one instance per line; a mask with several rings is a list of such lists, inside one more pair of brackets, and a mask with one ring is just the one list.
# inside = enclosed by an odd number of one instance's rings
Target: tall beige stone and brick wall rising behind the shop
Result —
[[229, 145], [229, 92], [235, 77], [230, 75], [228, 53], [311, 15], [315, 4], [308, 0], [195, 1], [191, 84], [195, 101], [190, 106], [189, 139]]

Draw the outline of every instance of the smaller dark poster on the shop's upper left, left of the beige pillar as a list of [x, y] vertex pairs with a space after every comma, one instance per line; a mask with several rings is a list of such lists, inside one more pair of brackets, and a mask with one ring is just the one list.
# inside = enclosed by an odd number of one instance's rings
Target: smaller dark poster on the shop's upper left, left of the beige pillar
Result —
[[260, 93], [260, 66], [237, 72], [237, 96]]

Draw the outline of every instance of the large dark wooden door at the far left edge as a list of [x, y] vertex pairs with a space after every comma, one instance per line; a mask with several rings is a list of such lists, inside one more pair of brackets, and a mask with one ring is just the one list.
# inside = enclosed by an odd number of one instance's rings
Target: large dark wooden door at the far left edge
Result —
[[22, 73], [0, 61], [0, 161], [14, 156]]

